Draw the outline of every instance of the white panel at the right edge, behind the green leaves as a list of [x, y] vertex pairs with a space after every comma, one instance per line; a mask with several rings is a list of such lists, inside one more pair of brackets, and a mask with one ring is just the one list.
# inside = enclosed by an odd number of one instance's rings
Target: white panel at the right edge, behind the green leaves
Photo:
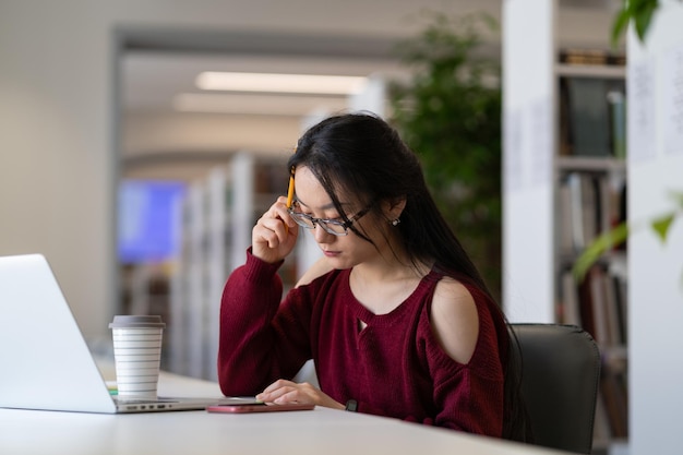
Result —
[[[683, 3], [667, 0], [660, 3], [646, 45], [637, 41], [633, 31], [628, 37], [628, 220], [632, 225], [642, 225], [671, 209], [669, 191], [683, 192]], [[676, 96], [669, 89], [675, 85], [674, 74], [678, 74]], [[651, 83], [642, 85], [644, 79], [650, 79]], [[678, 99], [678, 111], [669, 104], [673, 99]], [[672, 122], [674, 115], [678, 119]], [[678, 140], [673, 141], [672, 152], [667, 152], [667, 124], [675, 122]], [[628, 242], [628, 361], [634, 455], [680, 454], [683, 447], [682, 278], [681, 217], [672, 225], [666, 244], [649, 229], [633, 232]]]

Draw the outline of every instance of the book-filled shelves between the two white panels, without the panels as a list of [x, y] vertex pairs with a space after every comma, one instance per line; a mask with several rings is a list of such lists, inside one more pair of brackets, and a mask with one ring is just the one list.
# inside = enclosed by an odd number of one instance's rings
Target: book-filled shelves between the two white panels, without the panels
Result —
[[626, 250], [622, 246], [604, 254], [582, 282], [574, 278], [572, 267], [598, 235], [626, 219], [624, 63], [604, 58], [554, 68], [555, 318], [583, 326], [602, 352], [598, 450], [628, 438]]

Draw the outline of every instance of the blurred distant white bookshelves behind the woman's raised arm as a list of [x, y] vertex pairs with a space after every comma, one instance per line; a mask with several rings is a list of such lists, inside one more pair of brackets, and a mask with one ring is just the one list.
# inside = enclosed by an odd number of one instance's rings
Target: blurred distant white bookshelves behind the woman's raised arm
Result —
[[[218, 313], [230, 272], [242, 265], [256, 219], [287, 190], [287, 157], [236, 153], [229, 163], [189, 182], [180, 215], [181, 248], [163, 263], [124, 268], [124, 311], [161, 314], [167, 322], [164, 368], [216, 380]], [[280, 267], [285, 289], [316, 251], [297, 250]]]

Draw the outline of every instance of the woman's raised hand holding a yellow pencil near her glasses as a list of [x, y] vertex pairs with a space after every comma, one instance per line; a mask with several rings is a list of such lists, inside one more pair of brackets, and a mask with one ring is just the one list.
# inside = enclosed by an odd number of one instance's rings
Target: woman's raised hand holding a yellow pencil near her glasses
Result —
[[251, 252], [260, 260], [274, 264], [291, 252], [298, 235], [299, 225], [287, 213], [287, 197], [279, 196], [252, 229]]

